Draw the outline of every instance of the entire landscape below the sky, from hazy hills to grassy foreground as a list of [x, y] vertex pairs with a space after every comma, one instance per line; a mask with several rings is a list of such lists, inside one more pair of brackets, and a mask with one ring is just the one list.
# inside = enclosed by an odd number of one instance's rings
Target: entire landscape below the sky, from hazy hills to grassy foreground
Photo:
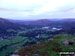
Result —
[[23, 22], [0, 18], [0, 56], [59, 56], [59, 52], [75, 52], [74, 19]]

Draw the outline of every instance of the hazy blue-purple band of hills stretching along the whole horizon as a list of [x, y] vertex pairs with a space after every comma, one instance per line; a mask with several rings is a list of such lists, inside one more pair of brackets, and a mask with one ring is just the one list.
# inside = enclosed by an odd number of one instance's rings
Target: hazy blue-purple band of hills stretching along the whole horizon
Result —
[[20, 30], [22, 27], [28, 29], [44, 26], [75, 29], [75, 19], [40, 19], [33, 21], [24, 21], [24, 20], [8, 20], [0, 18], [0, 30], [3, 31], [6, 29]]

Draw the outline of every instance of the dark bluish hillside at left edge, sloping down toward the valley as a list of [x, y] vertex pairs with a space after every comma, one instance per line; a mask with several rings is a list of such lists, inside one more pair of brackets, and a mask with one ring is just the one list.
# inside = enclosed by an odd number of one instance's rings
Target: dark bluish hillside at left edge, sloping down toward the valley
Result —
[[[0, 18], [0, 36], [6, 36], [18, 30], [22, 30], [22, 27], [24, 26], [18, 23], [10, 22], [7, 19]], [[8, 32], [9, 30], [13, 32], [10, 33]]]

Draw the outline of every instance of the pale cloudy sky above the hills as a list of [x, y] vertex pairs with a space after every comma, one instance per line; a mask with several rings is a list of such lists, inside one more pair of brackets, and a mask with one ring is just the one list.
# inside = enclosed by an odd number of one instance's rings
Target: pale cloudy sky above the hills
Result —
[[16, 20], [75, 18], [75, 0], [0, 0], [0, 17]]

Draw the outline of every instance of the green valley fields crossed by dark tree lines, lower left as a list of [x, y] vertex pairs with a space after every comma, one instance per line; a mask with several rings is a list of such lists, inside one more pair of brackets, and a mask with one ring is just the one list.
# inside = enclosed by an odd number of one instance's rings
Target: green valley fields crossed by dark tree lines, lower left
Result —
[[16, 49], [20, 49], [20, 47], [26, 43], [28, 39], [24, 37], [16, 37], [12, 40], [4, 40], [0, 42], [0, 56], [6, 56], [10, 53], [14, 52]]

